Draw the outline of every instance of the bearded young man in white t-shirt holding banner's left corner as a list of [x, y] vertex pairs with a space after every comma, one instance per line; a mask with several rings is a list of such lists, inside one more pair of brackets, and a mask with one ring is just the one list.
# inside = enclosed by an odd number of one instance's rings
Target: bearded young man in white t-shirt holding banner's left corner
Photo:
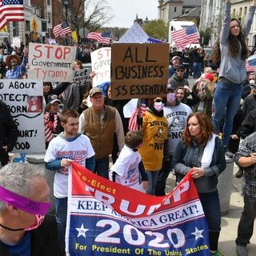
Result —
[[94, 150], [90, 139], [78, 133], [79, 114], [75, 110], [64, 110], [61, 124], [64, 132], [50, 141], [46, 150], [46, 168], [55, 170], [54, 197], [56, 205], [56, 220], [58, 223], [58, 242], [65, 252], [66, 212], [68, 195], [68, 167], [72, 161], [87, 169], [94, 170]]

